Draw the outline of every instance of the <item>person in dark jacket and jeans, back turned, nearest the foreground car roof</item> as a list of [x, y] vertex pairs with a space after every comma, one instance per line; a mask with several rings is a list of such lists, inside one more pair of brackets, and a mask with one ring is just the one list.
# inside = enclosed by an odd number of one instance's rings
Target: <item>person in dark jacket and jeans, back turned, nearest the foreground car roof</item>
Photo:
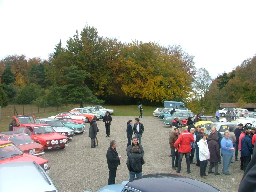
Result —
[[139, 147], [137, 145], [132, 147], [132, 154], [128, 156], [127, 159], [127, 168], [129, 169], [130, 179], [129, 181], [135, 178], [142, 176], [142, 165], [145, 164], [143, 156], [139, 153]]

